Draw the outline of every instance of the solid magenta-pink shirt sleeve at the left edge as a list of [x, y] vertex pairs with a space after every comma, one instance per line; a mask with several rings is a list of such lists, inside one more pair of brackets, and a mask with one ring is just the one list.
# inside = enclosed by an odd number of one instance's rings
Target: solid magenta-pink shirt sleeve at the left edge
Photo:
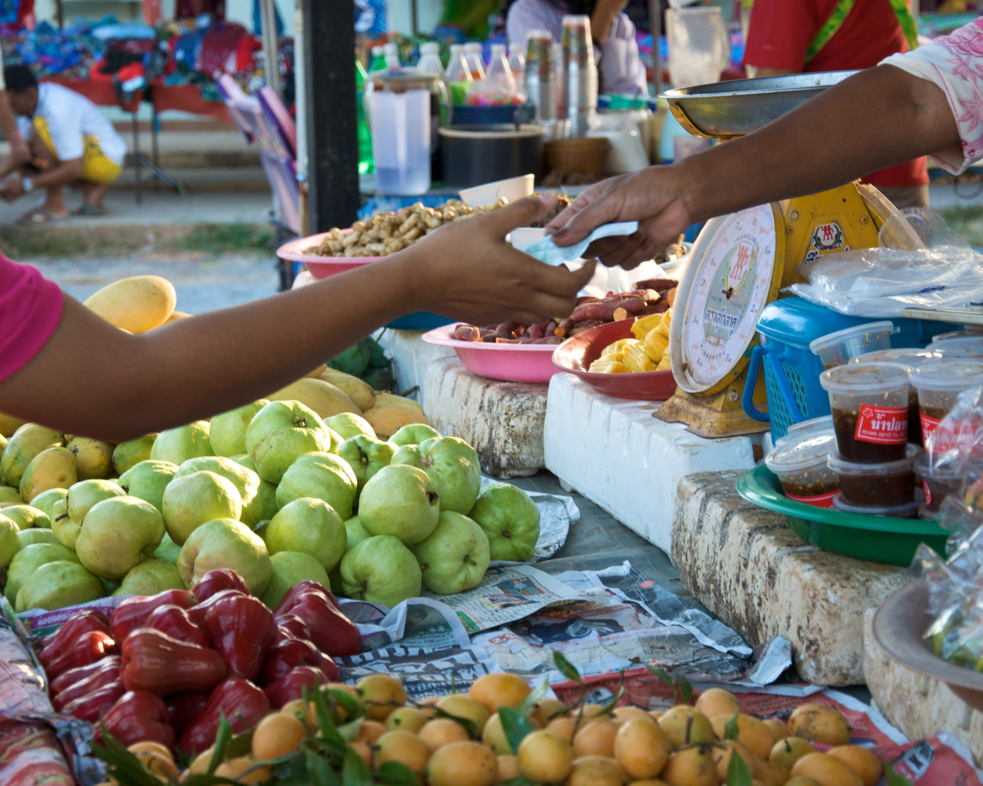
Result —
[[0, 380], [40, 351], [58, 325], [61, 309], [57, 284], [0, 253]]

